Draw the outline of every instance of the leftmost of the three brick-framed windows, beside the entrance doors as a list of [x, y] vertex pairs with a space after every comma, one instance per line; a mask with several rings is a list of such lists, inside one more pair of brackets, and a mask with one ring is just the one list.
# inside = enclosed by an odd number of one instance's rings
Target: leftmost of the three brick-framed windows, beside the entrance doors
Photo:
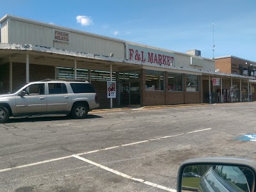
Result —
[[146, 70], [145, 80], [147, 91], [164, 90], [164, 72]]

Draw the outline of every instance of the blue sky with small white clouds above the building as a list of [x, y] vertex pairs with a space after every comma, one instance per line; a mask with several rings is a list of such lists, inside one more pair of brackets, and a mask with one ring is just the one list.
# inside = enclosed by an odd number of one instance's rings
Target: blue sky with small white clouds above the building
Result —
[[177, 52], [198, 49], [205, 58], [214, 37], [214, 57], [256, 61], [255, 0], [9, 0], [1, 2], [0, 17], [6, 14]]

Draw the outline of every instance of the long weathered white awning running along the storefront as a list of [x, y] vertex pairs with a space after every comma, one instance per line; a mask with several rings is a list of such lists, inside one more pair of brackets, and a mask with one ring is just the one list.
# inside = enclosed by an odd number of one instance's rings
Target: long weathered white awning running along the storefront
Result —
[[43, 47], [31, 44], [1, 44], [0, 43], [0, 65], [7, 62], [24, 63], [26, 54], [29, 52], [29, 63], [38, 65], [51, 65], [55, 67], [74, 67], [76, 60], [77, 68], [86, 68], [91, 70], [109, 70], [112, 65], [113, 71], [124, 72], [138, 70], [140, 68], [152, 68], [154, 70], [170, 70], [180, 73], [195, 73], [205, 76], [216, 77], [235, 77], [239, 79], [252, 79], [255, 77], [241, 76], [237, 74], [226, 74], [211, 70], [200, 70], [196, 68], [186, 68], [179, 66], [159, 66], [155, 63], [147, 63], [136, 60], [127, 60], [124, 58], [115, 58], [112, 56], [102, 56], [99, 54], [68, 51], [65, 49], [56, 49], [52, 47]]

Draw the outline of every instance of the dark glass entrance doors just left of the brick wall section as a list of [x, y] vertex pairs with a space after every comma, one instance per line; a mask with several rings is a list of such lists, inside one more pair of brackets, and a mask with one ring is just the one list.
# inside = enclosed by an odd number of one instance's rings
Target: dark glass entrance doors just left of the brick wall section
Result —
[[120, 105], [129, 106], [140, 104], [139, 82], [120, 83]]

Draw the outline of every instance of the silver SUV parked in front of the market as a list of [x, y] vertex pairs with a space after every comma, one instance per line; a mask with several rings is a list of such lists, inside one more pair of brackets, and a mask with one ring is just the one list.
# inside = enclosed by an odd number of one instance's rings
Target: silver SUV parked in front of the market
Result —
[[45, 79], [0, 95], [0, 123], [9, 116], [70, 114], [85, 118], [95, 108], [99, 108], [97, 93], [88, 81]]

